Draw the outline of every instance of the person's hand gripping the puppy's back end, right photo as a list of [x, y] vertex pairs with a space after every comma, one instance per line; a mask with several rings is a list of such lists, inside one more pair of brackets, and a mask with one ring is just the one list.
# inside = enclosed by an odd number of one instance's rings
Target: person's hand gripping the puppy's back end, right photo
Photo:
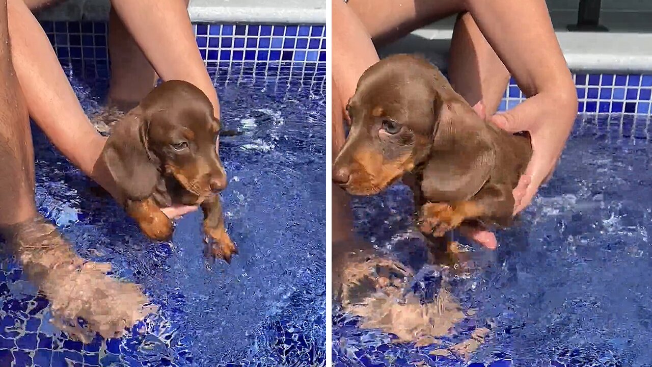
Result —
[[[565, 89], [567, 90], [561, 90], [557, 95], [540, 93], [512, 110], [490, 118], [492, 123], [510, 133], [528, 131], [532, 140], [532, 158], [526, 172], [512, 191], [514, 215], [524, 210], [542, 183], [550, 179], [571, 134], [577, 115], [577, 97], [574, 86], [567, 86]], [[482, 103], [476, 104], [473, 109], [482, 118], [486, 118]], [[490, 249], [497, 246], [496, 236], [492, 232], [464, 226], [460, 227], [460, 233]]]

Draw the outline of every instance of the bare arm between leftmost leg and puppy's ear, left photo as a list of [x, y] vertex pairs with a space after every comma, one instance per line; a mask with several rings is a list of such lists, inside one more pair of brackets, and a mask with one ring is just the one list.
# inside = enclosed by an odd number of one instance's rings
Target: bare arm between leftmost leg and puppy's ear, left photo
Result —
[[12, 61], [29, 116], [76, 167], [115, 193], [108, 172], [95, 168], [106, 139], [83, 112], [48, 37], [22, 0], [8, 0], [8, 14], [16, 20], [9, 24]]

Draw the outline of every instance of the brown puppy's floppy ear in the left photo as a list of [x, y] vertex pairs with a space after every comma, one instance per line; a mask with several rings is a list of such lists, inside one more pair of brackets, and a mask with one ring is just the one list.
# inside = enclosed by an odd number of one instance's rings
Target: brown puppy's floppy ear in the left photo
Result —
[[149, 197], [160, 176], [156, 157], [147, 146], [148, 128], [149, 122], [136, 107], [115, 123], [102, 151], [113, 180], [130, 200]]

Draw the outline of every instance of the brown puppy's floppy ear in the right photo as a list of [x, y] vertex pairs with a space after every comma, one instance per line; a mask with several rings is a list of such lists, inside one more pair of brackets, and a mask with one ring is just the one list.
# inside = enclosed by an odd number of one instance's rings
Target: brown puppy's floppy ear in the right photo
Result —
[[434, 108], [432, 147], [421, 189], [433, 202], [468, 200], [480, 191], [494, 168], [490, 129], [458, 95], [452, 99], [437, 96]]

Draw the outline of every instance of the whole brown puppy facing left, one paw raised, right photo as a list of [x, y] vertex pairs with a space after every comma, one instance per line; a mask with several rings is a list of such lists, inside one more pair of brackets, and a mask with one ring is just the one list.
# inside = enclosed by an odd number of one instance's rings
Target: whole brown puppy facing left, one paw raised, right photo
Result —
[[346, 108], [351, 131], [333, 164], [346, 191], [373, 195], [409, 174], [424, 234], [441, 237], [462, 223], [511, 225], [529, 136], [482, 120], [428, 61], [379, 61]]

